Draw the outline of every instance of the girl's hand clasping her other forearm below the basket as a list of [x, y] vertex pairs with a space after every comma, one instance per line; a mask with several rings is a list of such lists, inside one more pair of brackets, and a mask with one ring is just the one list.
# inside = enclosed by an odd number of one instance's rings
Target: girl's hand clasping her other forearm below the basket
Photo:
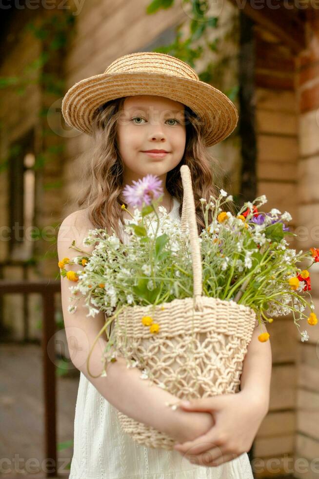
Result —
[[246, 391], [219, 394], [214, 397], [193, 399], [188, 407], [180, 403], [183, 411], [207, 411], [215, 425], [193, 441], [176, 444], [190, 462], [203, 466], [219, 466], [248, 452], [259, 430], [267, 407]]

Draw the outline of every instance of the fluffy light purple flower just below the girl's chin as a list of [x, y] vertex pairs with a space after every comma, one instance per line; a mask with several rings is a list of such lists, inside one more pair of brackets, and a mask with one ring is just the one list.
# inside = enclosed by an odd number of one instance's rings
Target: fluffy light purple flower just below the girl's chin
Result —
[[143, 202], [150, 205], [152, 199], [157, 199], [163, 192], [162, 182], [158, 176], [147, 174], [138, 181], [133, 180], [134, 186], [126, 185], [123, 196], [128, 204], [142, 206]]

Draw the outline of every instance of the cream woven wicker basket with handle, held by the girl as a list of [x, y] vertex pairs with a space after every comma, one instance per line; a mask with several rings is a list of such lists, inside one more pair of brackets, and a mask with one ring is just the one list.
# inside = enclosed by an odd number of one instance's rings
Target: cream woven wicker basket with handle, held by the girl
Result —
[[[184, 191], [181, 228], [185, 232], [188, 221], [194, 297], [155, 307], [125, 308], [115, 320], [117, 344], [120, 347], [126, 335], [126, 348], [152, 372], [153, 382], [164, 383], [166, 390], [180, 399], [235, 393], [239, 391], [243, 359], [256, 314], [250, 307], [234, 301], [202, 296], [200, 243], [187, 165], [181, 166], [180, 174]], [[141, 318], [148, 315], [160, 325], [157, 334], [141, 323]], [[120, 411], [118, 418], [122, 430], [139, 444], [170, 450], [176, 443], [168, 435]]]

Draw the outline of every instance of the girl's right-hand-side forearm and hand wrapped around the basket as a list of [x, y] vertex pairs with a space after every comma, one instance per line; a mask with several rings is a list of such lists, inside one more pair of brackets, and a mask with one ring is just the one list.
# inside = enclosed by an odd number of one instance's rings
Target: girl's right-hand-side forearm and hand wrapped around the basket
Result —
[[210, 412], [216, 419], [208, 433], [174, 446], [184, 457], [192, 457], [201, 464], [209, 453], [211, 461], [206, 461], [205, 465], [218, 466], [233, 459], [234, 455], [237, 457], [250, 450], [269, 408], [271, 346], [269, 341], [260, 343], [258, 336], [261, 332], [267, 332], [263, 324], [253, 331], [243, 361], [238, 393], [193, 399], [190, 405], [180, 406], [184, 411]]

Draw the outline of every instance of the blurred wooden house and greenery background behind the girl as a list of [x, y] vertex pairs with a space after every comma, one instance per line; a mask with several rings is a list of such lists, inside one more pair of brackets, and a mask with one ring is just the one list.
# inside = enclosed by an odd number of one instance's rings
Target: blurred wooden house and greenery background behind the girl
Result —
[[[68, 477], [79, 371], [60, 305], [57, 233], [75, 211], [91, 138], [61, 115], [68, 88], [136, 51], [174, 55], [239, 110], [210, 148], [242, 204], [292, 216], [290, 247], [319, 247], [317, 0], [3, 0], [0, 4], [0, 477]], [[319, 273], [311, 270], [315, 305]], [[319, 329], [269, 325], [270, 409], [256, 478], [319, 477]], [[310, 331], [311, 329], [311, 331]], [[51, 461], [49, 459], [51, 459]]]

